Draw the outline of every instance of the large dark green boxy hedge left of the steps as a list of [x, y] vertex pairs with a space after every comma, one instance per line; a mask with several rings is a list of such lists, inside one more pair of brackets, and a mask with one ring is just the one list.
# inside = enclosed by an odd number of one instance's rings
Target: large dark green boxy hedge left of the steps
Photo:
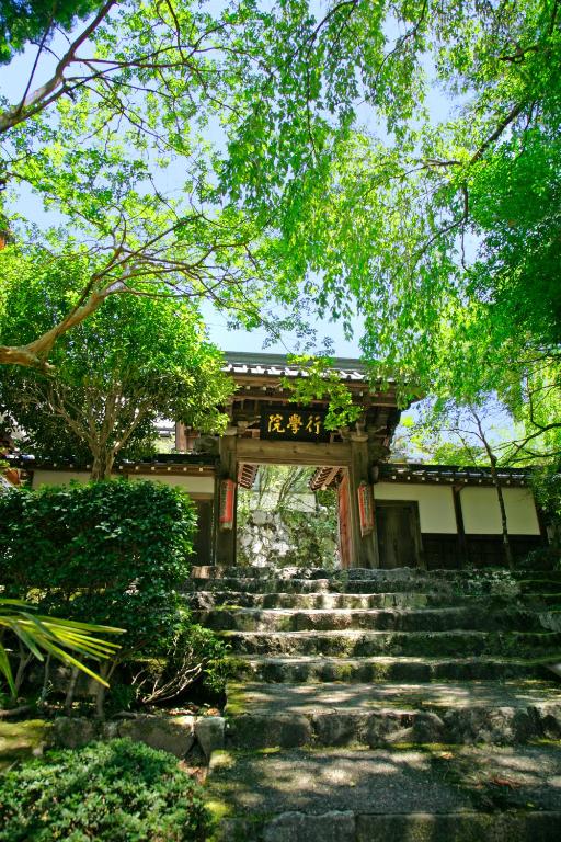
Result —
[[161, 652], [181, 624], [196, 515], [179, 489], [110, 480], [0, 498], [5, 596], [126, 628], [121, 658]]

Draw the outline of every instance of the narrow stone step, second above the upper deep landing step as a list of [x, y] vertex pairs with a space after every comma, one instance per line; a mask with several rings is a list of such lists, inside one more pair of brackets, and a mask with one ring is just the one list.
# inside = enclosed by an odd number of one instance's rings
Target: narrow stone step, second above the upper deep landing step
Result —
[[561, 633], [554, 632], [222, 632], [234, 655], [458, 657], [473, 655], [548, 657], [561, 661]]

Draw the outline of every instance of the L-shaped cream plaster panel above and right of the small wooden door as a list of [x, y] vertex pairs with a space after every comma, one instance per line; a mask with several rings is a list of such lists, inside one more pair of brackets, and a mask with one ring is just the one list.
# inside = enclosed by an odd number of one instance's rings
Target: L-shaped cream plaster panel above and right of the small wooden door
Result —
[[378, 482], [374, 486], [374, 497], [375, 500], [416, 500], [421, 532], [457, 532], [451, 488], [412, 482]]

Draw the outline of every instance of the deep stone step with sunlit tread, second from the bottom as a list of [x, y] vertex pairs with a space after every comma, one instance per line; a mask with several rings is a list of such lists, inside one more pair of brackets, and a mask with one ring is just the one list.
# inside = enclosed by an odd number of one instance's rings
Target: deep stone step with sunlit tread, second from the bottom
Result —
[[561, 737], [552, 682], [230, 684], [227, 746], [525, 743]]

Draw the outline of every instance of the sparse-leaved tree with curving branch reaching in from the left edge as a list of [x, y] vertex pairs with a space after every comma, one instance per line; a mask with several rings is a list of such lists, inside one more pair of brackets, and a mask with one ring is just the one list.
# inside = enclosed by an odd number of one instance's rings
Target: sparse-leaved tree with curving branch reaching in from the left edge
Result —
[[[108, 1], [69, 47], [39, 42], [21, 95], [0, 113], [3, 242], [16, 242], [4, 252], [48, 261], [54, 274], [87, 255], [91, 271], [47, 332], [1, 340], [0, 363], [45, 368], [57, 339], [108, 296], [153, 284], [248, 325], [263, 319], [263, 293], [275, 285], [264, 227], [216, 194], [215, 175], [220, 122], [243, 89], [229, 56], [260, 18], [252, 3], [214, 14], [197, 0]], [[38, 202], [26, 220], [13, 204], [23, 185]], [[37, 226], [41, 205], [51, 216]]]

